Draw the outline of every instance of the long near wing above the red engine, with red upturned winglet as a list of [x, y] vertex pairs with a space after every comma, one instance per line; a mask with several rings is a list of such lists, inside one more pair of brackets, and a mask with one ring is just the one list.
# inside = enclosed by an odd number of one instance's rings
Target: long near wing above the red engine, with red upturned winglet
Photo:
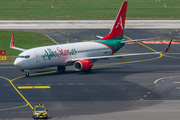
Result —
[[73, 61], [77, 61], [77, 60], [98, 61], [98, 60], [109, 59], [109, 58], [123, 58], [123, 57], [127, 57], [127, 56], [136, 56], [136, 55], [161, 54], [161, 53], [165, 53], [169, 50], [172, 41], [173, 41], [173, 39], [171, 39], [171, 41], [169, 42], [169, 45], [167, 46], [167, 48], [163, 52], [148, 52], [148, 53], [127, 54], [127, 55], [109, 55], [109, 56], [97, 56], [97, 57], [84, 57], [84, 58], [80, 58], [80, 59], [71, 59], [68, 62], [70, 62], [70, 61], [73, 62]]

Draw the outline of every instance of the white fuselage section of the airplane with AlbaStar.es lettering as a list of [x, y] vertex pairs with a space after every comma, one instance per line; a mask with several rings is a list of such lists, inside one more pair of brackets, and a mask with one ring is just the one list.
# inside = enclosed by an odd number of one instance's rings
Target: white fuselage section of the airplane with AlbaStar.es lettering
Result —
[[28, 49], [16, 58], [14, 65], [22, 70], [72, 65], [72, 59], [112, 55], [108, 46], [98, 42], [79, 42]]

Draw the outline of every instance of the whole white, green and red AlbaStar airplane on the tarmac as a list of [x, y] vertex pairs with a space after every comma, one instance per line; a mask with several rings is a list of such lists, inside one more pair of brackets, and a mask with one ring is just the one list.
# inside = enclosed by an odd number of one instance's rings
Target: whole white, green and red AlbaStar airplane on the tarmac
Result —
[[167, 52], [173, 39], [171, 39], [169, 45], [163, 52], [113, 55], [121, 49], [125, 43], [152, 39], [128, 41], [123, 39], [127, 4], [127, 1], [123, 2], [110, 33], [105, 37], [97, 36], [101, 38], [100, 40], [42, 46], [26, 50], [14, 46], [14, 34], [12, 34], [10, 48], [23, 51], [14, 61], [14, 65], [21, 71], [24, 71], [26, 77], [29, 77], [29, 70], [55, 66], [57, 66], [57, 71], [59, 72], [64, 72], [66, 66], [70, 65], [73, 65], [76, 71], [90, 72], [95, 61]]

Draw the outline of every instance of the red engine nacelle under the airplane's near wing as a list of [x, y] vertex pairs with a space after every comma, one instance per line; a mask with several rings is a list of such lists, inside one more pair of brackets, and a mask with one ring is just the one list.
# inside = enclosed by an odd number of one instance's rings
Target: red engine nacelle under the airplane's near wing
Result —
[[76, 71], [91, 70], [93, 64], [89, 60], [78, 60], [74, 63], [74, 69]]

